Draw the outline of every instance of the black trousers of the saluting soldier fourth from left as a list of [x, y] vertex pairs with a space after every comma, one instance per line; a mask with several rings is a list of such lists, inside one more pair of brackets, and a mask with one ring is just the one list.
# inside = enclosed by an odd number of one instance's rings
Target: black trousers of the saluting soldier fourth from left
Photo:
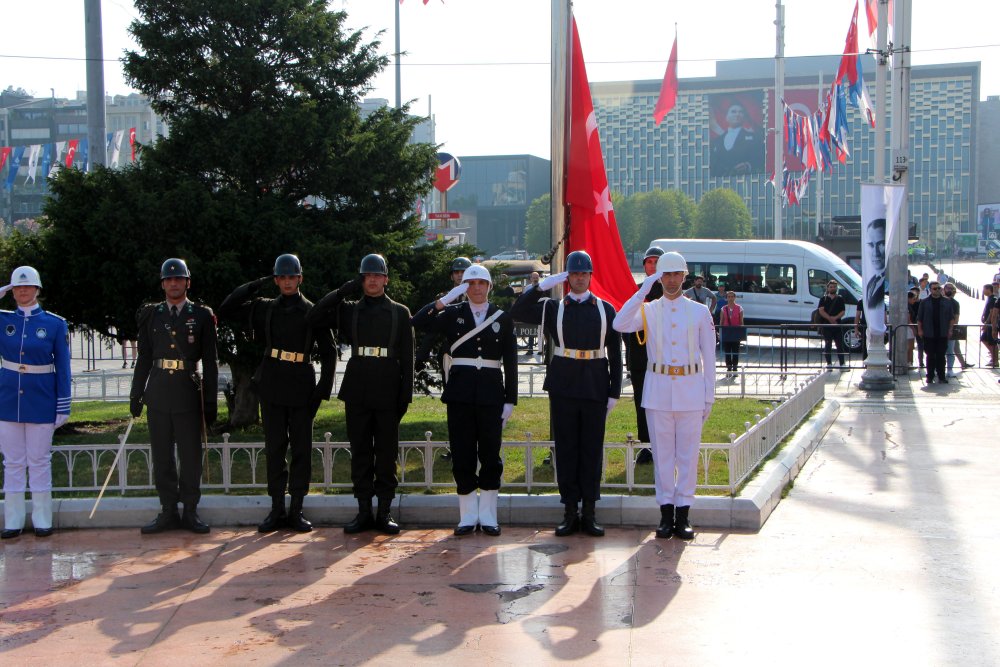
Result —
[[399, 460], [399, 415], [395, 408], [374, 409], [344, 404], [347, 439], [351, 443], [351, 483], [360, 500], [392, 500], [396, 496]]

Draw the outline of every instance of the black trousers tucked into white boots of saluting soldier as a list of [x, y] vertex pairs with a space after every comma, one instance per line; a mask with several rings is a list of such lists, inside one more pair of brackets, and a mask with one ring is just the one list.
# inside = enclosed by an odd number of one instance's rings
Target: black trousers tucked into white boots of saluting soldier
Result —
[[502, 412], [502, 405], [448, 404], [451, 472], [455, 476], [459, 495], [464, 496], [476, 489], [493, 491], [500, 488], [503, 476], [503, 461], [500, 459]]

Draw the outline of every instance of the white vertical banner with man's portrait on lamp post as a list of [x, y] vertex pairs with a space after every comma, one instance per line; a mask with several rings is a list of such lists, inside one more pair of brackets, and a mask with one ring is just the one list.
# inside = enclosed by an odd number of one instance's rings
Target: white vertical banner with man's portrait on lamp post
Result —
[[901, 185], [861, 185], [862, 299], [870, 335], [885, 333], [885, 249], [892, 247], [899, 233], [899, 209], [905, 194]]

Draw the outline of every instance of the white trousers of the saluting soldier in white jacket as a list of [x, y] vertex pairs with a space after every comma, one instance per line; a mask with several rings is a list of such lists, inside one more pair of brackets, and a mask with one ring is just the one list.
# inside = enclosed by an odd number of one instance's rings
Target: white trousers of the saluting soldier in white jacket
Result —
[[702, 410], [668, 412], [646, 408], [658, 505], [690, 507], [694, 502], [703, 416]]

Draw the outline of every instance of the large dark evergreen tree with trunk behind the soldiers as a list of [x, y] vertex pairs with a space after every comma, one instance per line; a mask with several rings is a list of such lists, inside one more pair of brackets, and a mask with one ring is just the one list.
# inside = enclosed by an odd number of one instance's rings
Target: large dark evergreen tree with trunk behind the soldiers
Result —
[[[126, 54], [125, 72], [170, 136], [140, 147], [134, 166], [53, 180], [33, 258], [53, 310], [134, 337], [136, 307], [162, 298], [165, 258], [187, 259], [192, 294], [218, 304], [270, 274], [284, 252], [302, 259], [313, 300], [356, 274], [368, 252], [386, 255], [393, 298], [433, 298], [451, 253], [415, 247], [412, 210], [430, 189], [435, 147], [409, 143], [418, 120], [407, 108], [361, 116], [358, 102], [388, 60], [326, 5], [136, 1], [140, 50]], [[230, 421], [250, 423], [258, 357], [245, 332], [220, 328], [220, 356], [233, 372]]]

